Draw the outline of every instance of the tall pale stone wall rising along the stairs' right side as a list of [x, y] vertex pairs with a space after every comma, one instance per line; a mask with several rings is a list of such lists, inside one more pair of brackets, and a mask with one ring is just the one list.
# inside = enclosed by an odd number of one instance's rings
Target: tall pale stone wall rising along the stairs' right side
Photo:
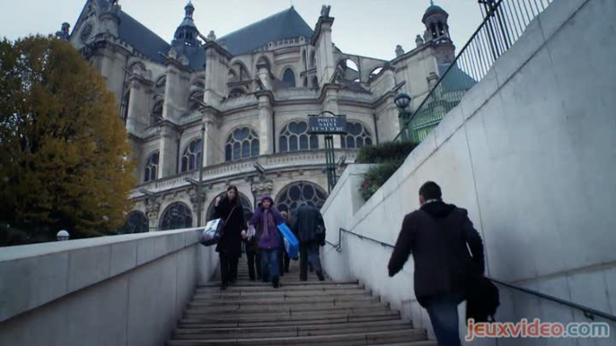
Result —
[[[328, 240], [337, 243], [338, 229], [344, 227], [393, 244], [404, 215], [418, 208], [419, 186], [434, 180], [447, 202], [468, 209], [485, 243], [488, 275], [616, 314], [612, 18], [616, 3], [611, 0], [550, 4], [358, 209], [348, 200], [356, 201], [359, 168], [348, 169], [322, 209]], [[328, 246], [322, 255], [330, 276], [364, 281], [416, 326], [431, 332], [412, 290], [412, 259], [391, 279], [390, 249], [345, 234], [341, 241], [341, 252]], [[500, 291], [498, 320], [591, 322], [568, 307], [506, 288]], [[612, 324], [610, 340], [483, 342], [612, 345], [613, 335]]]

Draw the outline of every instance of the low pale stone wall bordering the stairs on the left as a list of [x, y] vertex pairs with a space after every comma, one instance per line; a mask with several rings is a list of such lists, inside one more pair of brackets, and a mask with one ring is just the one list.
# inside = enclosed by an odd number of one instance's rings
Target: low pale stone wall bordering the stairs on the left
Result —
[[200, 231], [0, 251], [0, 344], [163, 345], [217, 255]]

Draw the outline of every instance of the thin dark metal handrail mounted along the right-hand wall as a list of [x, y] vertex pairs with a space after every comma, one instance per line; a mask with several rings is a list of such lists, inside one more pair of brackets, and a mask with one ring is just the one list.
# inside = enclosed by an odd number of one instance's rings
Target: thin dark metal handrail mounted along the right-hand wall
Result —
[[[369, 240], [369, 241], [371, 241], [371, 242], [373, 242], [373, 243], [376, 243], [376, 244], [381, 245], [382, 247], [390, 247], [390, 248], [394, 248], [394, 247], [392, 246], [392, 244], [388, 244], [388, 243], [385, 243], [385, 242], [383, 242], [383, 241], [376, 240], [376, 239], [374, 239], [374, 238], [369, 238], [369, 237], [362, 236], [361, 234], [358, 234], [358, 233], [356, 233], [356, 232], [350, 231], [350, 230], [348, 230], [348, 229], [343, 229], [343, 228], [340, 228], [340, 229], [339, 229], [339, 233], [338, 233], [338, 244], [333, 244], [333, 243], [331, 243], [330, 241], [327, 241], [327, 240], [325, 241], [325, 242], [326, 242], [327, 244], [329, 244], [331, 247], [334, 247], [334, 249], [336, 249], [336, 251], [337, 251], [337, 252], [342, 252], [342, 238], [341, 238], [341, 236], [342, 236], [342, 232], [345, 232], [345, 233], [351, 234], [351, 235], [356, 236], [357, 238], [360, 238], [360, 239], [366, 239], [366, 240]], [[507, 282], [505, 282], [505, 281], [500, 281], [500, 280], [497, 280], [497, 279], [491, 278], [491, 277], [489, 277], [489, 276], [486, 276], [486, 279], [488, 279], [489, 281], [492, 281], [492, 282], [494, 282], [494, 283], [497, 283], [497, 284], [499, 284], [499, 285], [505, 286], [506, 288], [509, 288], [509, 289], [512, 289], [512, 290], [519, 290], [519, 291], [521, 291], [521, 292], [524, 292], [524, 293], [530, 294], [530, 295], [535, 296], [535, 297], [543, 298], [543, 299], [550, 300], [550, 301], [553, 301], [553, 302], [555, 302], [555, 303], [559, 303], [559, 304], [564, 305], [564, 306], [567, 306], [567, 307], [572, 307], [572, 308], [575, 308], [575, 309], [577, 309], [577, 310], [582, 311], [582, 312], [584, 313], [584, 316], [585, 316], [586, 318], [591, 319], [591, 320], [594, 320], [594, 317], [595, 317], [595, 316], [599, 316], [599, 317], [601, 317], [601, 318], [603, 318], [603, 319], [606, 319], [606, 320], [610, 320], [610, 321], [616, 322], [616, 316], [613, 316], [613, 315], [610, 315], [610, 314], [604, 313], [604, 312], [599, 311], [599, 310], [596, 310], [596, 309], [594, 309], [594, 308], [592, 308], [592, 307], [585, 307], [585, 306], [583, 306], [583, 305], [579, 305], [579, 304], [577, 304], [577, 303], [574, 303], [574, 302], [571, 302], [571, 301], [568, 301], [568, 300], [564, 300], [564, 299], [561, 299], [561, 298], [556, 298], [556, 297], [554, 297], [554, 296], [550, 296], [550, 295], [548, 295], [548, 294], [541, 293], [541, 292], [536, 291], [536, 290], [528, 290], [528, 289], [524, 289], [524, 287], [516, 286], [516, 285], [514, 285], [514, 284], [507, 283]]]

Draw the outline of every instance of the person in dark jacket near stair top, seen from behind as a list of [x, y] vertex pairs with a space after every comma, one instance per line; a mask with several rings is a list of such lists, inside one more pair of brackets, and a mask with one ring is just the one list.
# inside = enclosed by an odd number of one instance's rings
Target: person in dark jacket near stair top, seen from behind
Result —
[[318, 209], [304, 204], [297, 209], [293, 229], [299, 240], [300, 281], [308, 280], [308, 256], [319, 281], [324, 281], [319, 246], [325, 245], [325, 222]]

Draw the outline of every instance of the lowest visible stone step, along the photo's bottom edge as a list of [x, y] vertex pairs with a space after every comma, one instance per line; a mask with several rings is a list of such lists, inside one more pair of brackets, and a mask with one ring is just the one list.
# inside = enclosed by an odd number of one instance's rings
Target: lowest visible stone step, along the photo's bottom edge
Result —
[[295, 336], [280, 338], [253, 339], [208, 339], [208, 340], [172, 340], [167, 346], [208, 346], [208, 345], [374, 345], [374, 343], [414, 342], [426, 339], [426, 333], [408, 329], [400, 331], [370, 333], [339, 333], [332, 335]]

